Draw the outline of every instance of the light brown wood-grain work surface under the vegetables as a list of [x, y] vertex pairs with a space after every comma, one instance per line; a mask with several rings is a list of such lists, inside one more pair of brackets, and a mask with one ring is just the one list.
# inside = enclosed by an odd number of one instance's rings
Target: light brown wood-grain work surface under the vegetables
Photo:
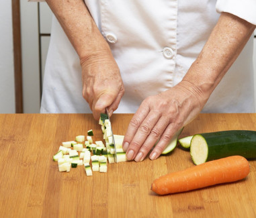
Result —
[[[114, 114], [114, 134], [124, 135], [131, 118]], [[255, 124], [256, 114], [200, 114], [180, 138]], [[0, 217], [256, 217], [255, 160], [244, 180], [163, 197], [151, 191], [153, 180], [193, 166], [181, 146], [154, 161], [108, 164], [108, 173], [58, 172], [52, 155], [61, 142], [89, 129], [102, 140], [91, 114], [1, 114]]]

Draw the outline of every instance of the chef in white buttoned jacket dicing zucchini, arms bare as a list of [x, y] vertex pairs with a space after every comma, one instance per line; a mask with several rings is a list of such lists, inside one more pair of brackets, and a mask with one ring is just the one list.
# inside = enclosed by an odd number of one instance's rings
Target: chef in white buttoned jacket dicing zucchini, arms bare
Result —
[[41, 112], [135, 113], [128, 160], [160, 139], [158, 158], [200, 111], [254, 112], [255, 0], [46, 2], [56, 18]]

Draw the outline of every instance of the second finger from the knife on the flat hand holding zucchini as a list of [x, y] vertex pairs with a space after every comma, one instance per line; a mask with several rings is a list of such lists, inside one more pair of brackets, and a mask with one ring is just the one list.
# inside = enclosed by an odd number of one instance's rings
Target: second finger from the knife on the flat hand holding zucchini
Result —
[[151, 111], [150, 113], [148, 113], [144, 121], [142, 121], [127, 150], [126, 158], [128, 160], [133, 160], [136, 157], [138, 151], [140, 150], [140, 147], [145, 142], [148, 135], [151, 133], [151, 130], [153, 129], [157, 121], [159, 121], [160, 116], [160, 113], [155, 113], [155, 111]]

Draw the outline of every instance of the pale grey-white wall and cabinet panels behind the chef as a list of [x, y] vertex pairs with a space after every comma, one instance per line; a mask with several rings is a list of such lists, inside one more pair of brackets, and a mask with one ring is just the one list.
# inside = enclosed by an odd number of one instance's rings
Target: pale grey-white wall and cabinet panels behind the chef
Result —
[[[39, 113], [40, 62], [42, 64], [41, 72], [43, 77], [44, 64], [46, 62], [48, 44], [50, 42], [50, 36], [48, 36], [48, 34], [50, 34], [52, 12], [46, 3], [40, 3], [38, 11], [38, 4], [28, 3], [27, 0], [20, 0], [20, 7], [22, 14], [21, 25], [24, 113]], [[40, 17], [39, 25], [38, 15]], [[11, 1], [0, 1], [0, 113], [15, 113], [12, 53], [13, 42], [11, 27]], [[38, 46], [39, 42], [40, 47]], [[255, 66], [256, 87], [256, 38], [254, 39], [253, 60]]]

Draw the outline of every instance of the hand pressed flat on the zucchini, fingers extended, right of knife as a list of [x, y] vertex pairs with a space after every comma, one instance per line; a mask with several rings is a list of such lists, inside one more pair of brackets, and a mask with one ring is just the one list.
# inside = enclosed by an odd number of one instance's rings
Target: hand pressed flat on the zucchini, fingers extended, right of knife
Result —
[[123, 148], [128, 160], [157, 159], [173, 135], [200, 113], [207, 97], [189, 83], [181, 81], [175, 87], [147, 97], [132, 117], [124, 136]]

